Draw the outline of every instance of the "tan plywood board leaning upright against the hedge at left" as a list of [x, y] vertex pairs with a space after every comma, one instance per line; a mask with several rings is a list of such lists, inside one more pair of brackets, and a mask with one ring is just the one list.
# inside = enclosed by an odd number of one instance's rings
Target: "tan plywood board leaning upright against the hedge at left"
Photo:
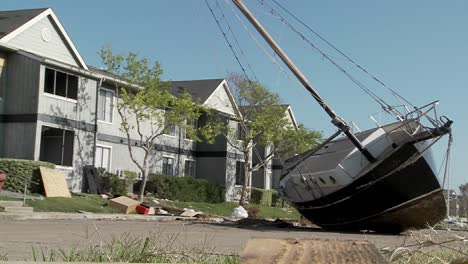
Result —
[[54, 169], [39, 167], [41, 173], [42, 185], [47, 197], [67, 197], [71, 198], [68, 190], [65, 175]]

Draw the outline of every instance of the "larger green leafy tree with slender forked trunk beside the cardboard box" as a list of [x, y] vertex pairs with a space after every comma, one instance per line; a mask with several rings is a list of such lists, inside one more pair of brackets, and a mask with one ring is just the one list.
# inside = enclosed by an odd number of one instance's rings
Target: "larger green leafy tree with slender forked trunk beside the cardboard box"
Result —
[[[142, 176], [138, 192], [142, 201], [150, 163], [157, 154], [156, 143], [169, 128], [177, 126], [191, 139], [213, 142], [221, 133], [222, 123], [213, 118], [209, 109], [193, 102], [187, 92], [171, 94], [170, 82], [161, 80], [163, 71], [159, 62], [150, 65], [148, 59], [140, 59], [132, 52], [114, 54], [110, 47], [101, 49], [98, 54], [106, 70], [118, 77], [114, 83], [120, 130], [126, 134], [130, 159]], [[198, 120], [202, 114], [209, 120], [203, 126], [196, 127], [194, 122], [187, 122]], [[137, 157], [137, 149], [143, 151], [142, 158]]]

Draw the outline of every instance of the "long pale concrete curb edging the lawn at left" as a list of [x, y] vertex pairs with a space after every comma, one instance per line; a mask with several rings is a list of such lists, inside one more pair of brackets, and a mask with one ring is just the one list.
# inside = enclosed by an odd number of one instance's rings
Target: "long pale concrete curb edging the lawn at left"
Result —
[[159, 221], [194, 220], [194, 217], [139, 215], [139, 214], [94, 214], [94, 213], [9, 213], [0, 212], [0, 221], [12, 220], [114, 220], [114, 221]]

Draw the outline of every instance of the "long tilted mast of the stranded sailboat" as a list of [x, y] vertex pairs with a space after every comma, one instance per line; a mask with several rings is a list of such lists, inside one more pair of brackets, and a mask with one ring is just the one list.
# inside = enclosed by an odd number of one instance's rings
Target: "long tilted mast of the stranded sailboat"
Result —
[[348, 124], [339, 117], [333, 109], [323, 100], [323, 98], [314, 90], [312, 85], [309, 83], [307, 78], [302, 74], [302, 72], [296, 67], [296, 65], [289, 59], [286, 53], [281, 49], [281, 47], [276, 43], [276, 41], [268, 34], [268, 32], [263, 28], [263, 26], [258, 22], [258, 20], [252, 15], [249, 9], [242, 3], [242, 0], [232, 0], [234, 4], [239, 8], [239, 10], [247, 17], [247, 19], [252, 23], [255, 29], [262, 35], [265, 41], [270, 45], [270, 47], [275, 51], [275, 53], [283, 60], [283, 62], [288, 66], [288, 68], [294, 73], [294, 75], [299, 79], [302, 85], [312, 94], [314, 99], [319, 103], [319, 105], [325, 110], [325, 112], [331, 117], [332, 123], [338, 127], [343, 133], [349, 138], [349, 140], [358, 148], [358, 150], [366, 157], [369, 162], [375, 162], [376, 159], [372, 154], [367, 150], [359, 141], [359, 139], [351, 132], [351, 129]]

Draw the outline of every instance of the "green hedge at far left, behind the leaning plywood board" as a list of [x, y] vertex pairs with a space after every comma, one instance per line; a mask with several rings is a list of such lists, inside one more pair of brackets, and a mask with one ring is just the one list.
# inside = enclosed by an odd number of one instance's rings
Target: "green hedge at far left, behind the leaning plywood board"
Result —
[[43, 192], [42, 185], [40, 185], [39, 166], [55, 168], [54, 164], [43, 161], [0, 159], [0, 169], [5, 171], [8, 177], [3, 189], [24, 192], [24, 184], [27, 183], [30, 192]]

